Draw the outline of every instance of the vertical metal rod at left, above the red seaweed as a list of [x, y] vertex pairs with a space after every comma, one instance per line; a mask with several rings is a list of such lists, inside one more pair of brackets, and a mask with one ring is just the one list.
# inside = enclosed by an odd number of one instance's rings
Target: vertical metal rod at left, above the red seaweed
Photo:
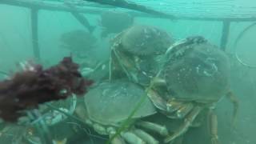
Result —
[[34, 52], [34, 58], [37, 61], [40, 60], [40, 50], [38, 46], [38, 9], [31, 9], [31, 30], [32, 30], [32, 46]]

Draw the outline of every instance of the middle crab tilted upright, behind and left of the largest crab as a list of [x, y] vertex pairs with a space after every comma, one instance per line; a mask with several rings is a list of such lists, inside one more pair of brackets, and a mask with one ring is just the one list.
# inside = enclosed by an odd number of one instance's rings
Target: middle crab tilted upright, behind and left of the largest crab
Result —
[[118, 34], [112, 43], [110, 79], [117, 71], [146, 86], [159, 70], [162, 54], [173, 40], [154, 26], [132, 26]]

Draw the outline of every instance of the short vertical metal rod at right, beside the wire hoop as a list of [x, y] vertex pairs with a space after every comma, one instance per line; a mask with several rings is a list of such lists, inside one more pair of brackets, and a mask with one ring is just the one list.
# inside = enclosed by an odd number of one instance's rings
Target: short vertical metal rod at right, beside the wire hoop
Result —
[[230, 34], [230, 21], [223, 21], [222, 22], [222, 39], [220, 47], [223, 51], [226, 50], [226, 44]]

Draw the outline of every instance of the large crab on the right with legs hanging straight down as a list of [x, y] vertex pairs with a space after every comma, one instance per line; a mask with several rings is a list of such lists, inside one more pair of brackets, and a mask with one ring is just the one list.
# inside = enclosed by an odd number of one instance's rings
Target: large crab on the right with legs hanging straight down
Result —
[[167, 117], [184, 120], [165, 142], [185, 134], [198, 115], [206, 113], [211, 142], [218, 144], [217, 116], [213, 112], [216, 103], [226, 95], [234, 103], [234, 117], [238, 110], [238, 100], [230, 90], [227, 55], [200, 36], [175, 42], [165, 55], [165, 63], [152, 78], [148, 95]]

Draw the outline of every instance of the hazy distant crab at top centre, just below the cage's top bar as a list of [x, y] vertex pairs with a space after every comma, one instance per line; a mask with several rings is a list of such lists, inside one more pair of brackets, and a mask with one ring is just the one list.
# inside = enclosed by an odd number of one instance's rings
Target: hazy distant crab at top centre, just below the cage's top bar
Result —
[[101, 14], [102, 38], [111, 33], [120, 33], [134, 23], [134, 18], [125, 12], [108, 10]]

